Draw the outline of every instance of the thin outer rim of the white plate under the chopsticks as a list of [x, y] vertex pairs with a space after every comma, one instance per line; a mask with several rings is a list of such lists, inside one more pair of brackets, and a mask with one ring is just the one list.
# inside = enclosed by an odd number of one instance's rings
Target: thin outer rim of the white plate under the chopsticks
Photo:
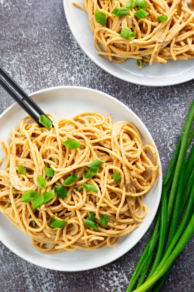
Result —
[[[122, 103], [120, 100], [114, 98], [113, 96], [107, 94], [107, 93], [104, 93], [102, 91], [99, 91], [99, 90], [96, 90], [96, 89], [92, 89], [92, 88], [88, 88], [88, 87], [82, 87], [82, 86], [55, 86], [55, 87], [49, 87], [49, 88], [44, 88], [44, 89], [41, 89], [41, 90], [38, 90], [38, 91], [35, 91], [31, 94], [29, 94], [29, 96], [31, 97], [35, 97], [36, 95], [38, 94], [41, 94], [41, 93], [44, 93], [44, 92], [48, 92], [48, 91], [55, 91], [55, 90], [58, 90], [58, 89], [78, 89], [78, 90], [82, 90], [82, 91], [90, 91], [90, 92], [97, 92], [97, 93], [100, 93], [101, 95], [104, 95], [112, 100], [114, 100], [115, 102], [118, 102], [120, 105], [122, 105], [122, 107], [126, 108], [129, 112], [132, 112], [133, 115], [140, 121], [141, 124], [143, 124], [143, 127], [147, 130], [147, 132], [149, 133], [150, 135], [150, 138], [152, 138], [152, 135], [150, 134], [148, 128], [145, 126], [145, 124], [143, 123], [143, 121], [136, 115], [136, 113], [134, 113], [129, 107], [127, 107], [127, 105], [125, 105], [124, 103]], [[14, 102], [12, 105], [10, 105], [5, 111], [3, 111], [1, 114], [0, 114], [0, 120], [1, 118], [6, 115], [10, 109], [12, 109], [15, 105], [17, 105], [17, 102]], [[152, 141], [156, 147], [156, 144], [152, 138]], [[158, 211], [158, 207], [159, 207], [159, 203], [160, 203], [160, 200], [161, 200], [161, 191], [162, 191], [162, 166], [161, 166], [161, 160], [160, 160], [160, 156], [159, 156], [159, 152], [158, 152], [158, 149], [156, 147], [156, 154], [157, 154], [157, 161], [158, 161], [158, 164], [159, 164], [159, 178], [158, 178], [158, 192], [159, 192], [159, 197], [157, 199], [157, 203], [156, 203], [156, 207], [155, 207], [155, 211], [153, 212], [153, 215], [152, 215], [152, 219], [151, 219], [151, 222], [147, 225], [147, 227], [144, 229], [144, 231], [142, 232], [142, 236], [139, 238], [139, 239], [136, 239], [133, 243], [133, 245], [131, 246], [131, 248], [129, 248], [127, 251], [124, 251], [121, 252], [121, 253], [117, 253], [116, 256], [114, 258], [107, 258], [106, 261], [103, 262], [103, 264], [98, 264], [98, 265], [95, 265], [93, 264], [90, 265], [91, 267], [90, 268], [78, 268], [78, 269], [67, 269], [67, 268], [59, 268], [59, 267], [51, 267], [50, 266], [47, 266], [45, 265], [44, 263], [42, 263], [42, 261], [40, 261], [39, 263], [37, 263], [37, 261], [35, 261], [33, 258], [31, 258], [30, 256], [29, 257], [26, 257], [25, 255], [23, 255], [22, 253], [16, 251], [14, 249], [14, 245], [11, 245], [10, 242], [5, 242], [4, 240], [2, 240], [0, 238], [0, 241], [8, 248], [10, 249], [10, 251], [12, 251], [13, 253], [15, 253], [17, 256], [19, 256], [20, 258], [26, 260], [27, 262], [30, 262], [34, 265], [37, 265], [37, 266], [40, 266], [40, 267], [43, 267], [43, 268], [46, 268], [46, 269], [49, 269], [49, 270], [56, 270], [56, 271], [64, 271], [64, 272], [78, 272], [78, 271], [84, 271], [84, 270], [91, 270], [91, 269], [95, 269], [95, 268], [98, 268], [98, 267], [102, 267], [104, 265], [107, 265], [108, 263], [111, 263], [113, 262], [114, 260], [117, 260], [118, 258], [120, 258], [121, 256], [123, 256], [125, 253], [127, 253], [128, 251], [130, 251], [132, 248], [134, 248], [134, 246], [142, 239], [142, 237], [145, 235], [145, 233], [147, 232], [147, 230], [150, 228], [150, 226], [152, 225], [153, 221], [154, 221], [154, 218], [155, 218], [155, 215]], [[3, 215], [1, 213], [1, 215]], [[17, 227], [15, 227], [17, 228]], [[24, 234], [26, 235], [26, 234]], [[28, 236], [28, 235], [26, 235]]]

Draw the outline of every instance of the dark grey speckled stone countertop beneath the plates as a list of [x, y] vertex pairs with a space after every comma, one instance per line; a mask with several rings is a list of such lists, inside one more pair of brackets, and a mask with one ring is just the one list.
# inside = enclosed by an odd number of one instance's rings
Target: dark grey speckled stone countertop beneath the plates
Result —
[[[67, 0], [68, 1], [68, 0]], [[161, 157], [163, 173], [179, 139], [194, 82], [145, 87], [119, 80], [95, 65], [76, 43], [61, 0], [0, 0], [0, 63], [28, 93], [60, 85], [104, 91], [145, 123]], [[0, 113], [13, 100], [0, 88]], [[152, 233], [113, 263], [85, 272], [57, 272], [32, 265], [0, 243], [2, 292], [124, 292]], [[179, 255], [162, 292], [194, 291], [194, 237]]]

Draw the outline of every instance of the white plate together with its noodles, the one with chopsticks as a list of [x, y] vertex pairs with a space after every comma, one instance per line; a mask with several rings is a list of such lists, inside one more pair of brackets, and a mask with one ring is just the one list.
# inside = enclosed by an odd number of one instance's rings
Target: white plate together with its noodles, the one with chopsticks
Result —
[[[2, 145], [9, 157], [5, 166], [5, 155], [0, 148], [0, 157], [3, 158], [0, 167], [0, 240], [18, 256], [52, 270], [89, 270], [110, 263], [129, 251], [143, 237], [159, 206], [162, 171], [152, 136], [134, 112], [100, 91], [62, 86], [37, 91], [31, 97], [46, 113], [56, 117], [55, 125], [49, 131], [31, 120], [25, 120], [25, 112], [15, 103], [0, 116], [0, 137], [4, 139]], [[95, 113], [91, 113], [94, 110]], [[88, 113], [83, 115], [82, 112]], [[106, 117], [107, 114], [110, 115]], [[20, 124], [21, 119], [24, 120]], [[11, 131], [10, 148], [8, 133]], [[61, 144], [70, 138], [75, 138], [81, 146], [69, 149]], [[147, 146], [144, 147], [145, 144]], [[105, 163], [99, 166], [95, 176], [86, 179], [86, 171], [90, 171], [90, 174], [95, 172], [93, 168], [87, 167], [88, 162], [96, 158]], [[125, 170], [122, 168], [123, 163], [126, 165]], [[26, 175], [18, 174], [19, 165], [26, 167]], [[53, 168], [55, 174], [52, 178], [45, 177], [44, 166]], [[4, 171], [5, 167], [9, 167], [10, 171]], [[138, 169], [142, 169], [140, 176]], [[121, 180], [112, 178], [115, 171], [118, 171]], [[29, 189], [39, 194], [48, 192], [56, 184], [63, 186], [63, 180], [72, 173], [80, 178], [72, 185], [66, 184], [67, 198], [59, 198], [56, 193], [53, 199], [41, 203], [35, 210], [32, 209], [35, 200], [22, 203], [21, 196]], [[38, 175], [44, 177], [45, 190], [38, 186]], [[97, 192], [86, 191], [81, 183], [95, 186]], [[140, 192], [141, 196], [137, 194]], [[145, 193], [146, 196], [143, 195]], [[99, 230], [83, 224], [83, 217], [90, 220], [88, 211], [95, 214], [95, 224]], [[99, 220], [100, 215], [106, 217], [106, 214], [108, 225]], [[50, 227], [52, 215], [55, 220], [67, 221], [63, 229]], [[39, 231], [35, 232], [35, 229]], [[33, 237], [33, 244], [25, 233]]]

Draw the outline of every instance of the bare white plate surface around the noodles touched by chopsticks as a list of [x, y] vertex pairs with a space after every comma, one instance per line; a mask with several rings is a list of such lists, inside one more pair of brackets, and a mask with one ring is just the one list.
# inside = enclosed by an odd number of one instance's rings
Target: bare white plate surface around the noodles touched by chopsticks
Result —
[[[45, 112], [55, 114], [58, 119], [70, 118], [83, 111], [97, 111], [104, 115], [110, 113], [114, 121], [131, 121], [139, 129], [144, 140], [154, 144], [149, 131], [134, 112], [120, 101], [100, 91], [83, 87], [63, 86], [43, 89], [32, 93], [31, 96]], [[1, 139], [8, 140], [8, 133], [25, 116], [25, 112], [17, 104], [13, 104], [3, 112], [0, 116]], [[115, 247], [105, 247], [91, 251], [65, 251], [50, 255], [40, 253], [31, 245], [31, 238], [14, 227], [1, 213], [0, 240], [21, 258], [52, 270], [89, 270], [110, 263], [129, 251], [145, 234], [154, 219], [159, 206], [162, 187], [161, 163], [158, 152], [157, 155], [160, 175], [144, 199], [144, 203], [148, 207], [148, 215], [139, 228], [131, 232], [129, 236], [123, 237]], [[0, 157], [4, 157], [1, 149]], [[4, 169], [4, 165], [1, 166], [1, 169]]]

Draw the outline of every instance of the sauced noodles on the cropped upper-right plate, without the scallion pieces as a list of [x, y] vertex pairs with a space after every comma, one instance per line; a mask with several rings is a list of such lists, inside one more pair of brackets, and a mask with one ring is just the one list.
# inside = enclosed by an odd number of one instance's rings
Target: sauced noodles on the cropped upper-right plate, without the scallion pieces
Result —
[[[123, 62], [127, 58], [143, 59], [150, 65], [155, 61], [166, 63], [168, 59], [194, 58], [193, 0], [146, 0], [149, 15], [140, 19], [134, 15], [137, 6], [128, 15], [111, 15], [114, 8], [127, 6], [127, 1], [84, 0], [84, 6], [73, 2], [88, 13], [94, 43], [100, 55], [114, 62]], [[105, 26], [96, 22], [96, 10], [106, 14]], [[159, 22], [159, 15], [167, 15], [168, 20]], [[122, 38], [122, 28], [131, 29], [136, 33], [136, 38]]]

